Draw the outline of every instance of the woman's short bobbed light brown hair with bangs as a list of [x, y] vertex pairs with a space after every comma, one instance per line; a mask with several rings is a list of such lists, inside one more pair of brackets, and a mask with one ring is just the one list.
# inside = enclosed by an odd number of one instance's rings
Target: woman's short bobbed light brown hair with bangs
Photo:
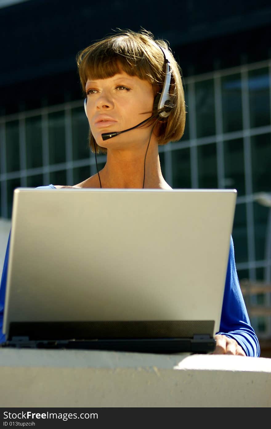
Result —
[[[159, 46], [169, 52], [172, 68], [169, 93], [174, 108], [168, 118], [162, 121], [157, 119], [158, 144], [165, 145], [169, 141], [176, 142], [181, 139], [186, 117], [181, 69], [165, 41], [154, 40], [154, 36], [146, 30], [139, 33], [131, 30], [120, 31], [78, 52], [76, 62], [84, 96], [87, 79], [106, 79], [121, 70], [129, 76], [137, 76], [155, 85], [154, 88], [157, 88], [159, 94], [165, 79], [165, 59]], [[97, 145], [91, 131], [89, 142], [93, 152], [95, 148], [97, 153], [107, 152], [106, 148]]]

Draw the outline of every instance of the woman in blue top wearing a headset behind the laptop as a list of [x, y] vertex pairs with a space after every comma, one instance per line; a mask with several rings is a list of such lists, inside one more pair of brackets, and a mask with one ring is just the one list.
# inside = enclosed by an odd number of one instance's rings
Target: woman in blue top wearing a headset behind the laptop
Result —
[[[146, 31], [121, 32], [81, 51], [77, 63], [90, 148], [95, 155], [106, 153], [107, 160], [101, 171], [74, 187], [171, 189], [161, 172], [158, 145], [181, 139], [185, 102], [181, 73], [166, 43], [154, 41]], [[0, 311], [8, 252], [9, 244]], [[259, 342], [238, 283], [232, 239], [220, 332], [215, 338], [214, 353], [259, 356]]]

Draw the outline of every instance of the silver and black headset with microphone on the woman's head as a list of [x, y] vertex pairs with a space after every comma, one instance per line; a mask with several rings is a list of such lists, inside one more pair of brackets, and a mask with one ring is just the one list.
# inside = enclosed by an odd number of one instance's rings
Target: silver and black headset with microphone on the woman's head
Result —
[[[155, 97], [155, 100], [154, 100], [154, 109], [157, 108], [157, 113], [152, 115], [150, 118], [145, 119], [145, 121], [140, 122], [140, 124], [135, 125], [135, 127], [129, 128], [128, 130], [123, 130], [123, 131], [119, 131], [119, 132], [111, 132], [111, 133], [103, 133], [102, 134], [103, 140], [111, 139], [112, 137], [117, 136], [118, 134], [126, 133], [126, 131], [133, 130], [134, 128], [139, 127], [140, 125], [144, 124], [145, 122], [149, 121], [151, 118], [154, 118], [156, 116], [164, 119], [170, 115], [170, 112], [171, 112], [172, 108], [174, 107], [174, 105], [172, 103], [172, 98], [169, 94], [169, 88], [170, 88], [170, 82], [171, 82], [171, 76], [172, 76], [172, 69], [170, 66], [170, 59], [169, 59], [169, 51], [162, 48], [162, 46], [157, 45], [156, 43], [155, 43], [155, 45], [158, 46], [158, 48], [160, 48], [161, 51], [163, 52], [164, 63], [165, 63], [165, 68], [166, 68], [163, 90], [162, 90], [161, 94], [157, 94], [157, 96]], [[84, 100], [84, 111], [85, 111], [85, 114], [87, 116], [87, 98], [85, 98], [85, 100]]]

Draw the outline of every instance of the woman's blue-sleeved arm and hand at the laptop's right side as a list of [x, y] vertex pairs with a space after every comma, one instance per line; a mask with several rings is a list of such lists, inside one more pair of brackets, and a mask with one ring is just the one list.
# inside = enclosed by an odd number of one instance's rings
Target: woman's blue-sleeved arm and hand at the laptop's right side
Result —
[[[217, 335], [217, 350], [215, 350], [215, 353], [222, 353], [220, 347], [223, 347], [223, 345], [229, 347], [230, 353], [230, 350], [234, 349], [235, 344], [235, 342], [227, 340], [227, 338], [231, 338], [237, 342], [237, 353], [231, 354], [241, 354], [238, 353], [238, 350], [240, 351], [238, 347], [241, 346], [246, 356], [260, 355], [259, 340], [250, 324], [238, 281], [232, 237], [230, 241], [229, 262], [221, 313], [220, 332], [217, 332]], [[226, 335], [227, 338], [220, 337], [220, 335]]]

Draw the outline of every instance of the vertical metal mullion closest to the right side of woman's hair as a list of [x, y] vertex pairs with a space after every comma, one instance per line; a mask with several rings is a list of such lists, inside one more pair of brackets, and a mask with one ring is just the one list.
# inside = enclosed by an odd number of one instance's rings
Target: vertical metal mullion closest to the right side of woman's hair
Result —
[[191, 186], [199, 187], [198, 176], [198, 149], [197, 149], [197, 121], [196, 121], [196, 97], [195, 84], [189, 84], [188, 90], [188, 109], [189, 109], [189, 135], [190, 135], [190, 165], [191, 165]]

